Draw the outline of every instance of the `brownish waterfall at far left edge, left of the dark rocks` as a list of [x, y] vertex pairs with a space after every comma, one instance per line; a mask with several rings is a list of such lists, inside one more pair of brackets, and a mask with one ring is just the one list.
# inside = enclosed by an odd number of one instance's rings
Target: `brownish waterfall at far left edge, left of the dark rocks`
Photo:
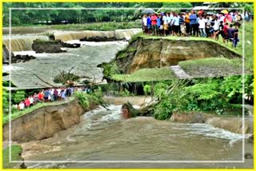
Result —
[[7, 50], [10, 50], [10, 42], [12, 52], [31, 51], [32, 43], [35, 39], [49, 40], [49, 38], [46, 35], [14, 35], [11, 37], [11, 42], [8, 37], [4, 37], [3, 44], [6, 46]]

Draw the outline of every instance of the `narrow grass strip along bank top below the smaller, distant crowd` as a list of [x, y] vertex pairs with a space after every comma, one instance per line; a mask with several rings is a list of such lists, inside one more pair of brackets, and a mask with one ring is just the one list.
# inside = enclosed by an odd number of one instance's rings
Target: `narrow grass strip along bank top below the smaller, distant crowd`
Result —
[[[74, 97], [68, 97], [68, 101], [73, 101]], [[50, 105], [62, 105], [65, 104], [68, 101], [54, 101], [54, 102], [40, 102], [37, 105], [33, 105], [30, 108], [26, 108], [23, 110], [14, 110], [13, 113], [11, 113], [11, 120], [14, 120], [18, 117], [22, 117], [23, 115], [27, 113], [31, 113], [36, 109], [40, 109], [44, 106], [50, 106]], [[2, 123], [6, 124], [9, 122], [9, 114], [3, 114], [2, 115]]]

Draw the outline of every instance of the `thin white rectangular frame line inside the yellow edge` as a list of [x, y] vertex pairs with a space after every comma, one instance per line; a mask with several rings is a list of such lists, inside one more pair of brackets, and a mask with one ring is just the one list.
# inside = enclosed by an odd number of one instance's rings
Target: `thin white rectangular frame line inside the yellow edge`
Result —
[[[11, 66], [11, 10], [138, 10], [139, 8], [9, 8], [9, 49], [10, 49], [10, 61]], [[159, 10], [159, 8], [151, 8], [153, 10]], [[162, 8], [162, 10], [193, 10], [192, 8]], [[210, 8], [208, 10], [242, 10], [244, 14], [244, 8]], [[245, 74], [245, 20], [242, 19], [242, 95], [245, 93], [244, 85], [244, 74]], [[10, 80], [11, 80], [11, 70], [10, 70]], [[9, 83], [11, 87], [11, 82]], [[10, 90], [10, 101], [11, 101], [11, 90]], [[245, 153], [245, 110], [244, 110], [245, 100], [242, 98], [242, 161], [12, 161], [11, 160], [11, 131], [9, 131], [9, 162], [10, 163], [244, 163], [244, 153]], [[11, 130], [11, 105], [9, 107], [9, 130]]]

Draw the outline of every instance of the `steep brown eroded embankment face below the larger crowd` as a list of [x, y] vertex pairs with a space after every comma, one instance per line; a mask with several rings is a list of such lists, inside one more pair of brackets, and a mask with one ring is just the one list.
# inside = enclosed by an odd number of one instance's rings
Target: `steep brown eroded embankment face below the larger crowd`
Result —
[[131, 74], [142, 68], [176, 66], [178, 62], [202, 58], [241, 58], [241, 55], [204, 38], [137, 38], [118, 52], [114, 62], [123, 74]]

